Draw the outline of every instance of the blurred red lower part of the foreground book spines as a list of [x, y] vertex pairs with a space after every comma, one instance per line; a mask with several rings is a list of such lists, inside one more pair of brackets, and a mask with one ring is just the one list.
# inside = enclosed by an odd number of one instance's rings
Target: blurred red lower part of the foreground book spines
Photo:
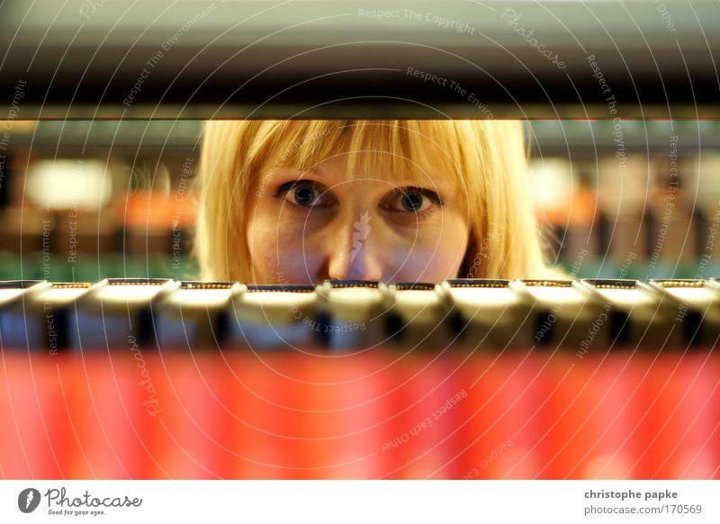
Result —
[[720, 358], [667, 348], [3, 354], [6, 479], [720, 478]]

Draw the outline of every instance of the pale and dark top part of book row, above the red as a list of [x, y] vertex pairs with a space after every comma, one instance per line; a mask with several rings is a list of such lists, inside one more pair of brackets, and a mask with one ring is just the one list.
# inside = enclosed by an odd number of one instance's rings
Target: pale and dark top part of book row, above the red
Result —
[[107, 279], [0, 282], [4, 348], [144, 350], [714, 347], [720, 284], [707, 280], [325, 281], [246, 285]]

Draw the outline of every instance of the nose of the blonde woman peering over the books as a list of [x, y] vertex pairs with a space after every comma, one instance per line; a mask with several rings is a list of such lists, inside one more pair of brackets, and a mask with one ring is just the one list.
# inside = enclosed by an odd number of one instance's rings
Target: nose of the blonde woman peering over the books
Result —
[[380, 280], [383, 277], [382, 239], [373, 233], [370, 212], [338, 217], [329, 223], [327, 273], [332, 280]]

